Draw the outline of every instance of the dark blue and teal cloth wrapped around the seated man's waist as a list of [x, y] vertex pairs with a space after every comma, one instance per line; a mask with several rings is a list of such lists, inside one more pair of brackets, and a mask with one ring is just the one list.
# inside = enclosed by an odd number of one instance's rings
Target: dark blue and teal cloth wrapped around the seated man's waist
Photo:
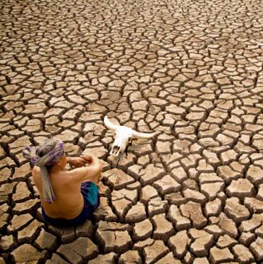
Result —
[[65, 219], [65, 218], [51, 218], [46, 215], [43, 207], [42, 214], [45, 218], [45, 221], [50, 223], [52, 226], [57, 227], [68, 227], [68, 226], [77, 226], [80, 223], [84, 222], [87, 219], [90, 219], [92, 213], [97, 209], [100, 205], [100, 193], [97, 189], [97, 186], [92, 181], [85, 181], [81, 184], [81, 194], [84, 198], [84, 206], [82, 212], [73, 219]]

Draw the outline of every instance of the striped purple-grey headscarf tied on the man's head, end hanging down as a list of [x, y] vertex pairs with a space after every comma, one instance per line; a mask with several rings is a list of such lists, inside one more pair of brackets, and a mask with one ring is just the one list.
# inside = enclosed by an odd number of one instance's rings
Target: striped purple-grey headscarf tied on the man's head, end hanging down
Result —
[[43, 191], [43, 198], [44, 201], [51, 204], [55, 200], [55, 193], [53, 191], [48, 169], [45, 166], [52, 166], [58, 159], [63, 156], [64, 149], [63, 149], [63, 142], [52, 138], [47, 139], [43, 144], [53, 143], [54, 147], [50, 150], [50, 152], [46, 153], [43, 157], [39, 156], [39, 147], [26, 147], [23, 149], [23, 157], [30, 160], [31, 164], [40, 167], [41, 169], [41, 181], [42, 181], [42, 191]]

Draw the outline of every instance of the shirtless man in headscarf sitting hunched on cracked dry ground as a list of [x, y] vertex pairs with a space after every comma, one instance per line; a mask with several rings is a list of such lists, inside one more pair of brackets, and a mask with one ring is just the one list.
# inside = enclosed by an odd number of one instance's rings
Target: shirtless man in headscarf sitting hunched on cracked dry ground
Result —
[[[43, 217], [53, 226], [75, 226], [90, 218], [100, 204], [97, 184], [102, 162], [94, 156], [66, 157], [63, 142], [48, 139], [23, 150], [35, 166], [33, 181], [41, 197]], [[65, 170], [69, 163], [76, 169]], [[87, 167], [85, 164], [89, 164]]]

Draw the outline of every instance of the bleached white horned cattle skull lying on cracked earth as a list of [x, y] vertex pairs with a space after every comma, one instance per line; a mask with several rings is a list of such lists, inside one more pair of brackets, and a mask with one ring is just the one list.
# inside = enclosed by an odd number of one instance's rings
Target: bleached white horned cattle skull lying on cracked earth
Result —
[[112, 150], [109, 154], [118, 156], [120, 152], [124, 152], [127, 144], [131, 142], [133, 138], [144, 138], [148, 139], [154, 137], [156, 133], [140, 133], [132, 130], [130, 127], [124, 127], [122, 125], [114, 125], [109, 121], [107, 115], [104, 117], [104, 124], [109, 130], [115, 132], [115, 139], [112, 145]]

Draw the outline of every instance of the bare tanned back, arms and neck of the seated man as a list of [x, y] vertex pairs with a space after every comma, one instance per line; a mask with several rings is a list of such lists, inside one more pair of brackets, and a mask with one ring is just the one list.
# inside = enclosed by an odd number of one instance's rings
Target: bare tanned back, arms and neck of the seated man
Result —
[[[72, 169], [71, 171], [61, 170], [67, 162], [75, 167], [90, 163], [87, 167]], [[102, 163], [93, 156], [81, 158], [62, 157], [58, 167], [52, 167], [49, 171], [50, 181], [55, 192], [55, 201], [48, 204], [43, 199], [42, 181], [39, 167], [33, 167], [33, 179], [41, 196], [41, 204], [45, 213], [51, 218], [73, 219], [78, 216], [83, 208], [84, 201], [80, 192], [80, 186], [84, 181], [98, 183]]]

